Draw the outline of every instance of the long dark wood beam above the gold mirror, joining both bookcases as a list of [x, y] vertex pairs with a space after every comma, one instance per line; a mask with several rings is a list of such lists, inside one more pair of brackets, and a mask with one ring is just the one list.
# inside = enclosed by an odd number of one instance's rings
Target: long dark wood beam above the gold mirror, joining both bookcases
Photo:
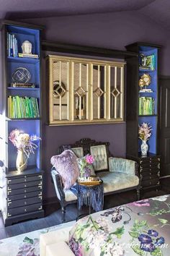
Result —
[[109, 48], [98, 48], [91, 46], [80, 46], [67, 43], [57, 43], [48, 40], [42, 40], [42, 51], [55, 51], [67, 54], [81, 54], [89, 56], [104, 56], [107, 58], [124, 59], [125, 56], [138, 56], [138, 54], [129, 51], [119, 51]]

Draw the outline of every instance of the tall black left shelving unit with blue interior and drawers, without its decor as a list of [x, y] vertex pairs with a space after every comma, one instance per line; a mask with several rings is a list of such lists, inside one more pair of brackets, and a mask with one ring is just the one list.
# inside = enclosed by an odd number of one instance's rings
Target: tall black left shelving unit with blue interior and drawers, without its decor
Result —
[[[41, 135], [41, 73], [40, 73], [40, 31], [41, 27], [27, 25], [20, 22], [2, 21], [2, 67], [3, 67], [3, 152], [4, 175], [3, 189], [1, 192], [1, 213], [6, 226], [28, 218], [40, 218], [44, 216], [42, 210], [42, 166], [41, 166], [41, 142], [37, 142], [35, 154], [30, 154], [27, 169], [17, 171], [17, 148], [9, 141], [9, 134], [14, 129], [19, 129], [29, 135]], [[9, 34], [17, 38], [17, 50], [22, 53], [22, 43], [29, 40], [32, 43], [30, 57], [13, 56], [9, 51]], [[35, 88], [12, 87], [12, 75], [18, 68], [27, 69], [30, 72], [30, 83]], [[36, 117], [10, 116], [9, 96], [36, 98], [39, 114]], [[22, 110], [24, 111], [24, 110]]]

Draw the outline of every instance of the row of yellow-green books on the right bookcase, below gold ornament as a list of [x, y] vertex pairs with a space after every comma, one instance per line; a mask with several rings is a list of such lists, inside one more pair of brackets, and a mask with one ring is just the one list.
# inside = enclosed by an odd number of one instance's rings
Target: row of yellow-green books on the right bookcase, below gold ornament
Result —
[[155, 109], [155, 99], [151, 97], [139, 97], [139, 114], [153, 115]]

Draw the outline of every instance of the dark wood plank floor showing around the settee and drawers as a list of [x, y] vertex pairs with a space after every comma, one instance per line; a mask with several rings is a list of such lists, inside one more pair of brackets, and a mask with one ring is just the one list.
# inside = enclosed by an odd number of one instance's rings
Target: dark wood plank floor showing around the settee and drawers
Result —
[[[143, 193], [143, 198], [154, 197], [158, 195], [165, 195], [165, 190], [150, 191]], [[112, 208], [117, 205], [122, 205], [136, 200], [136, 192], [123, 192], [117, 195], [108, 195], [104, 197], [104, 209]], [[84, 209], [85, 210], [85, 209]], [[66, 221], [73, 221], [76, 219], [76, 204], [68, 205], [66, 208]], [[3, 220], [0, 216], [0, 239], [6, 237], [17, 236], [37, 229], [44, 229], [50, 226], [55, 226], [61, 223], [61, 209], [58, 205], [50, 204], [45, 207], [45, 218], [35, 219], [31, 221], [24, 221], [16, 223], [12, 226], [4, 227]]]

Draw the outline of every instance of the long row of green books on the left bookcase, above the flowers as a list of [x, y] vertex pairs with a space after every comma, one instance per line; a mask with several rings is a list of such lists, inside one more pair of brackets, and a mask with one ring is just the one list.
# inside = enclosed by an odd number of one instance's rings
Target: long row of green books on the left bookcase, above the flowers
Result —
[[40, 116], [37, 98], [8, 97], [9, 118], [37, 118]]

